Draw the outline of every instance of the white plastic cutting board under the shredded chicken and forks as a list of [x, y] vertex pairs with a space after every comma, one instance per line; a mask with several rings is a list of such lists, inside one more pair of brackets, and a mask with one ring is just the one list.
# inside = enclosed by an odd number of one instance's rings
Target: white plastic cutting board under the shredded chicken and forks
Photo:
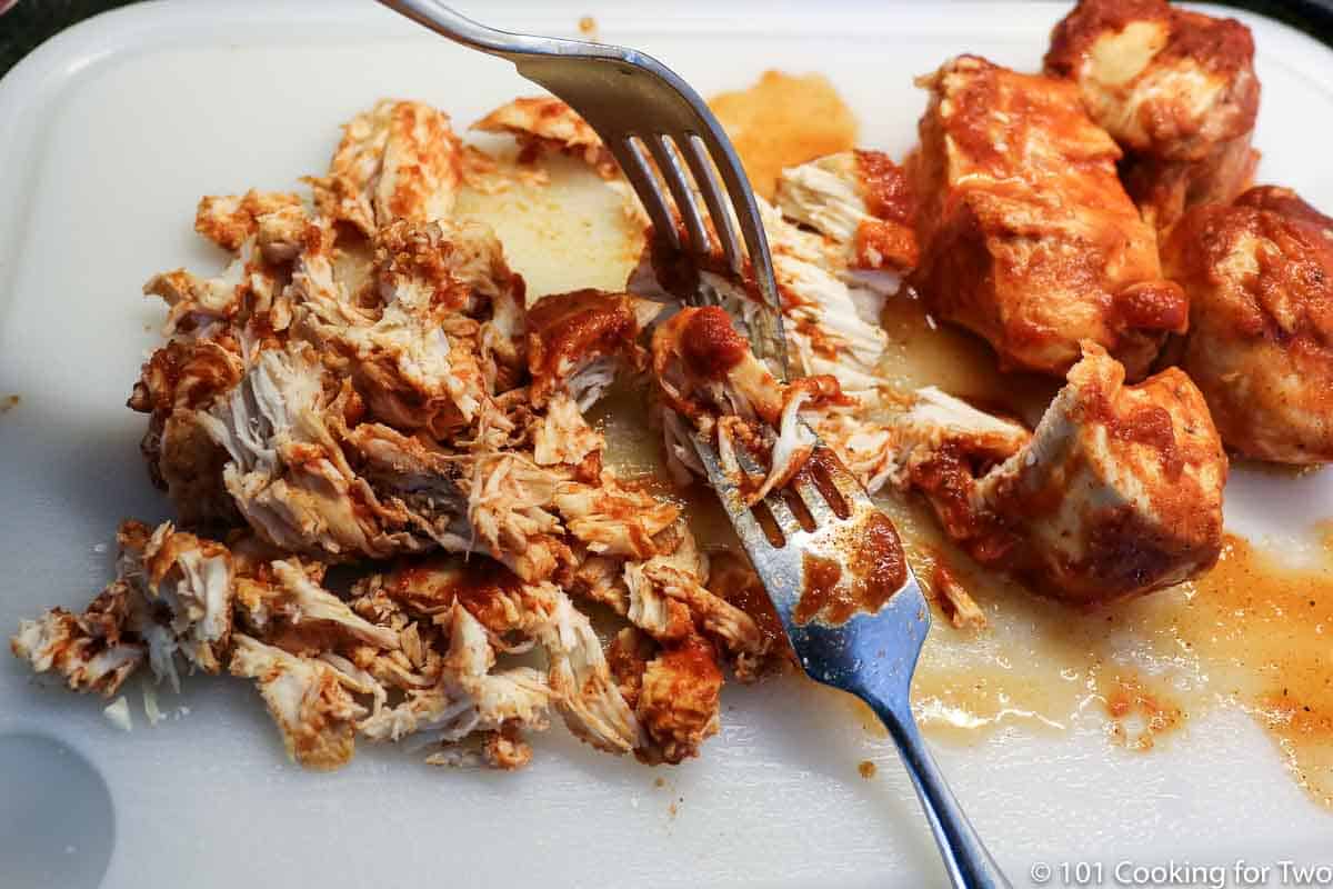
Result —
[[[860, 115], [864, 144], [894, 156], [924, 104], [913, 75], [964, 51], [1034, 68], [1065, 12], [605, 5], [463, 8], [551, 33], [592, 13], [605, 39], [656, 55], [704, 93], [769, 67], [822, 72]], [[1280, 171], [1333, 207], [1333, 55], [1242, 17], [1264, 83], [1260, 179]], [[44, 606], [85, 604], [109, 574], [105, 544], [123, 514], [167, 514], [140, 465], [143, 419], [121, 404], [161, 320], [136, 296], [143, 280], [217, 263], [189, 228], [199, 196], [288, 188], [323, 169], [337, 124], [380, 96], [424, 99], [465, 125], [531, 91], [507, 64], [368, 0], [143, 4], [79, 25], [0, 83], [0, 396], [21, 396], [0, 415], [3, 634]], [[1330, 514], [1329, 474], [1240, 477], [1229, 518], [1280, 530]], [[341, 772], [305, 773], [248, 682], [195, 677], [164, 706], [181, 702], [187, 716], [149, 730], [132, 690], [137, 728], [124, 734], [100, 701], [49, 690], [0, 657], [0, 886], [77, 889], [103, 866], [108, 889], [942, 881], [889, 744], [841, 698], [794, 680], [728, 686], [721, 736], [700, 761], [649, 770], [553, 730], [513, 776], [436, 770], [369, 745]], [[1016, 886], [1038, 862], [1333, 860], [1333, 814], [1305, 798], [1258, 728], [1221, 712], [1189, 732], [1150, 756], [1093, 729], [937, 749]], [[866, 758], [880, 766], [873, 781], [857, 774]]]

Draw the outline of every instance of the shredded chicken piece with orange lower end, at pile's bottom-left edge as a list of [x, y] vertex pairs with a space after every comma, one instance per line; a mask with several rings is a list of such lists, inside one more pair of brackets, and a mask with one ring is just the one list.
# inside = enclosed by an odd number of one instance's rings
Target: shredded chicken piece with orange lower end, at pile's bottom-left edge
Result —
[[288, 654], [244, 633], [235, 642], [231, 672], [256, 681], [287, 754], [311, 769], [336, 769], [351, 761], [356, 722], [367, 710], [343, 674], [324, 661]]

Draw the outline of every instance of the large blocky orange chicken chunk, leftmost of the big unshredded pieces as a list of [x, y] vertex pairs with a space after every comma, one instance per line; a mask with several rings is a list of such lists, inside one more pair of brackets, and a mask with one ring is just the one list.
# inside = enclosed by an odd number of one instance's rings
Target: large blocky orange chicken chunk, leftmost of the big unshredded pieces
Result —
[[926, 305], [1005, 368], [1062, 375], [1090, 340], [1140, 379], [1188, 304], [1077, 87], [974, 56], [920, 84], [930, 103], [908, 168]]

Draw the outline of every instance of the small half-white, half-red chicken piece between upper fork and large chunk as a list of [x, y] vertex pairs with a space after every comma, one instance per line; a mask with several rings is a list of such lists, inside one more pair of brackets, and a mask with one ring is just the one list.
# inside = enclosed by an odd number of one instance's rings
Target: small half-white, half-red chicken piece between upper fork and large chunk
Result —
[[906, 172], [882, 152], [856, 149], [788, 167], [774, 203], [782, 216], [838, 244], [849, 268], [916, 268]]

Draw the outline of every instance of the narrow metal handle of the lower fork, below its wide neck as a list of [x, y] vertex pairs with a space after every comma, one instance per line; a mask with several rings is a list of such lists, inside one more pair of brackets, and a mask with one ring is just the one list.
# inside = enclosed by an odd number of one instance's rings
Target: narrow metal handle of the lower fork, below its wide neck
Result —
[[905, 698], [885, 701], [874, 696], [864, 696], [864, 700], [898, 745], [898, 756], [902, 757], [902, 765], [906, 766], [921, 808], [925, 809], [949, 881], [957, 889], [1010, 889], [1009, 880], [990, 857], [945, 784], [944, 774], [934, 764], [912, 717], [910, 704]]

